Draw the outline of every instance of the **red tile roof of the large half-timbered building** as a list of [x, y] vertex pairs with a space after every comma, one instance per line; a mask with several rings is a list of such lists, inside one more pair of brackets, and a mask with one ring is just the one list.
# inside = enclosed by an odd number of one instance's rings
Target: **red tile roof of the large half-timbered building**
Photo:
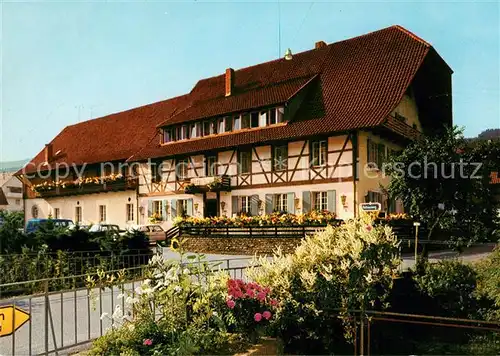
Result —
[[[227, 98], [224, 75], [202, 79], [186, 95], [66, 127], [51, 142], [54, 153], [61, 151], [53, 163], [143, 160], [378, 126], [430, 49], [392, 26], [295, 54], [290, 61], [236, 70], [234, 94]], [[308, 82], [306, 100], [286, 125], [159, 145], [158, 125], [283, 103]], [[42, 151], [31, 162], [43, 161]]]

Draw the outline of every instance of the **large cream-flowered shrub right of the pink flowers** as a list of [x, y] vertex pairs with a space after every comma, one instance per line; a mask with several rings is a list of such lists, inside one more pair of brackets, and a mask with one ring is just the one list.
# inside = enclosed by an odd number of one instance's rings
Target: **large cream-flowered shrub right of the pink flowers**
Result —
[[383, 306], [400, 264], [397, 256], [390, 227], [373, 226], [365, 216], [306, 238], [291, 255], [278, 251], [272, 261], [257, 259], [260, 267], [249, 276], [282, 301], [273, 327], [285, 347], [346, 352], [346, 341], [353, 340], [347, 310]]

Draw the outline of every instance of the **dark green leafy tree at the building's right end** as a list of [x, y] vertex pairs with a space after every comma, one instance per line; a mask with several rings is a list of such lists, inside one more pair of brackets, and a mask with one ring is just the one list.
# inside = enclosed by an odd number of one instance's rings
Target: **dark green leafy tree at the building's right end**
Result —
[[384, 166], [391, 176], [387, 191], [427, 226], [429, 240], [439, 231], [462, 243], [492, 240], [498, 202], [489, 176], [499, 153], [499, 141], [472, 145], [457, 127], [424, 136]]

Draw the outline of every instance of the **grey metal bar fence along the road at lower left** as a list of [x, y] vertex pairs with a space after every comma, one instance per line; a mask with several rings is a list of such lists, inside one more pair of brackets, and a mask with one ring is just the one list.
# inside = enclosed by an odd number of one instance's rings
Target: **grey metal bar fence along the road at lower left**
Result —
[[[245, 279], [248, 259], [210, 261], [213, 269], [226, 270], [232, 278]], [[15, 330], [20, 320], [13, 313], [13, 334], [0, 337], [0, 354], [5, 355], [57, 355], [88, 344], [112, 328], [112, 320], [101, 319], [103, 313], [110, 316], [116, 305], [126, 310], [124, 298], [120, 294], [135, 295], [135, 288], [143, 280], [146, 266], [126, 269], [127, 282], [112, 288], [85, 287], [89, 274], [70, 277], [46, 278], [25, 282], [0, 284], [2, 291], [16, 288], [19, 292], [31, 291], [34, 286], [40, 293], [17, 295], [0, 299], [0, 308], [14, 307], [30, 315], [29, 320]], [[123, 270], [107, 271], [106, 273]], [[58, 290], [60, 285], [73, 287]], [[1, 315], [1, 312], [0, 312]], [[6, 325], [4, 324], [4, 329]], [[2, 320], [0, 320], [0, 332]]]

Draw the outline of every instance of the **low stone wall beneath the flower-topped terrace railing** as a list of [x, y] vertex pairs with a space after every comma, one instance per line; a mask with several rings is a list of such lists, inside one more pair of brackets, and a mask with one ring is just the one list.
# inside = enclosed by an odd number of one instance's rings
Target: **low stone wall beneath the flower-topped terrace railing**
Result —
[[183, 247], [190, 252], [224, 255], [271, 255], [281, 246], [283, 252], [293, 252], [300, 243], [299, 238], [208, 238], [189, 237], [183, 239]]

